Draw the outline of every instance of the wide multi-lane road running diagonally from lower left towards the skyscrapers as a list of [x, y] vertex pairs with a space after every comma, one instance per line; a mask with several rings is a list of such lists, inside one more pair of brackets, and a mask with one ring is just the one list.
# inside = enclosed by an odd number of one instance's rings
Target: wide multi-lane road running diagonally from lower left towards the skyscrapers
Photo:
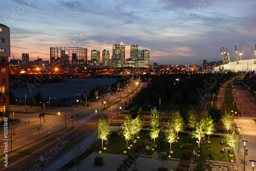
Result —
[[[141, 83], [141, 87], [146, 87], [147, 83]], [[127, 89], [127, 90], [126, 90]], [[125, 96], [129, 92], [129, 87], [126, 87], [121, 92], [121, 96]], [[101, 110], [102, 102], [108, 98], [108, 96], [102, 97], [97, 102], [91, 103], [89, 107], [81, 108], [81, 106], [71, 108], [66, 108], [66, 124], [71, 126], [71, 116], [75, 116], [73, 120], [73, 126], [75, 128], [72, 131], [59, 132], [56, 136], [56, 140], [51, 143], [42, 146], [37, 151], [32, 154], [27, 155], [26, 157], [16, 161], [15, 163], [9, 163], [8, 167], [4, 170], [40, 170], [40, 167], [47, 167], [49, 164], [53, 163], [55, 160], [60, 158], [62, 155], [66, 154], [69, 150], [74, 148], [74, 146], [80, 142], [83, 138], [88, 137], [95, 131], [97, 121], [104, 115], [109, 114], [111, 117], [115, 115], [115, 110], [117, 110], [122, 104], [130, 103], [132, 96], [136, 94], [137, 91], [140, 91], [141, 88], [138, 88], [133, 94], [128, 96], [123, 101], [112, 106], [106, 110]], [[110, 102], [115, 102], [120, 99], [120, 93], [113, 93], [111, 96]], [[62, 110], [61, 110], [62, 109]], [[65, 109], [64, 109], [65, 110]], [[97, 110], [97, 112], [96, 112]], [[38, 129], [30, 130], [26, 133], [18, 134], [13, 137], [13, 148], [25, 144], [34, 139], [37, 139], [41, 136], [47, 135], [59, 128], [65, 126], [65, 111], [63, 108], [59, 108], [61, 115], [46, 115], [46, 121], [43, 126]], [[76, 120], [76, 114], [78, 113], [78, 124]], [[22, 114], [21, 114], [22, 115]], [[18, 116], [18, 115], [17, 115]], [[26, 115], [27, 116], [27, 115]], [[38, 114], [32, 114], [29, 116], [31, 120], [39, 120]], [[114, 117], [114, 116], [113, 116]], [[111, 121], [111, 120], [110, 120]], [[38, 121], [39, 124], [39, 121]], [[17, 130], [18, 128], [16, 128]], [[18, 142], [18, 143], [16, 143]], [[3, 148], [3, 147], [1, 147]], [[3, 152], [3, 151], [2, 151]], [[39, 158], [43, 157], [44, 161], [40, 161]], [[3, 169], [2, 169], [3, 170]]]

